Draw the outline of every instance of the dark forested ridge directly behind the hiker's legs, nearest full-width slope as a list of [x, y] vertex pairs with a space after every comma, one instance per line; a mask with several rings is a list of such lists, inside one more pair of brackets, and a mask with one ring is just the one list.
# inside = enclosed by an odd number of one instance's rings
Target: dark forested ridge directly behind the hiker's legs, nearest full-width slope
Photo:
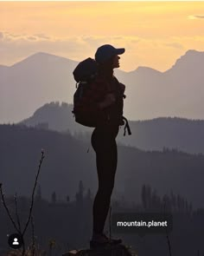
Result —
[[[50, 200], [68, 194], [73, 200], [79, 181], [95, 194], [98, 182], [95, 154], [90, 143], [73, 136], [41, 128], [0, 125], [1, 183], [5, 194], [29, 195], [44, 149], [38, 184], [43, 197]], [[203, 206], [204, 155], [184, 154], [176, 150], [143, 152], [118, 146], [118, 169], [113, 197], [141, 200], [141, 187], [150, 184], [157, 194], [182, 194], [194, 207]], [[196, 189], [194, 189], [196, 187]]]

